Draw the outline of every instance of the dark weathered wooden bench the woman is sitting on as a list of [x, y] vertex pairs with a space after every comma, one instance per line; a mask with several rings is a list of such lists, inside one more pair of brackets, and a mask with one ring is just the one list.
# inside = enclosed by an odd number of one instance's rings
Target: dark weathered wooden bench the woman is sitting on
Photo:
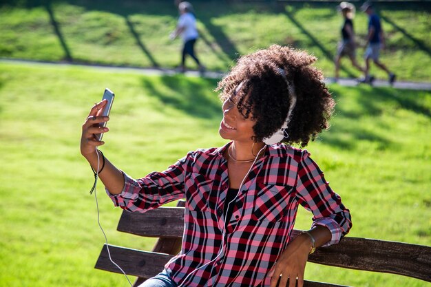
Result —
[[[160, 273], [166, 262], [180, 251], [184, 228], [184, 202], [177, 207], [160, 207], [146, 213], [123, 211], [118, 231], [146, 237], [159, 237], [152, 251], [139, 251], [109, 245], [109, 251], [127, 275], [137, 276], [134, 286]], [[300, 231], [293, 231], [297, 236]], [[431, 281], [431, 247], [401, 242], [386, 242], [365, 238], [345, 237], [334, 246], [318, 248], [308, 262], [393, 273]], [[109, 261], [106, 245], [103, 246], [95, 268], [120, 273]], [[306, 287], [340, 287], [315, 281], [305, 281]]]

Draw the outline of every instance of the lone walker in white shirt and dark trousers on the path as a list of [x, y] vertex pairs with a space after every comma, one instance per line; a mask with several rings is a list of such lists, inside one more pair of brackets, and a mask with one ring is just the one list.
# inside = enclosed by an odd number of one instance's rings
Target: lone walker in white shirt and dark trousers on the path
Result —
[[181, 35], [184, 43], [180, 71], [185, 72], [185, 59], [187, 54], [189, 54], [196, 64], [198, 64], [199, 71], [204, 72], [204, 66], [200, 63], [194, 49], [199, 33], [196, 29], [196, 17], [193, 14], [193, 6], [191, 6], [191, 3], [184, 1], [178, 5], [178, 10], [180, 10], [180, 18], [178, 19], [176, 30], [171, 33], [171, 39], [176, 39], [176, 37]]

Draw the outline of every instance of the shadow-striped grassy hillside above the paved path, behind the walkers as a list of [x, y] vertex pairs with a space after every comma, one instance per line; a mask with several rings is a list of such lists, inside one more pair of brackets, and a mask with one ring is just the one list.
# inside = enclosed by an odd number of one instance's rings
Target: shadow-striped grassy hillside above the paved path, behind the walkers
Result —
[[[272, 43], [319, 57], [333, 76], [342, 17], [336, 3], [193, 1], [201, 39], [197, 52], [209, 70], [225, 71], [240, 54]], [[379, 3], [387, 50], [382, 61], [400, 80], [431, 81], [431, 7]], [[0, 1], [0, 56], [101, 65], [176, 67], [180, 40], [169, 41], [178, 12], [172, 0]], [[366, 14], [358, 7], [357, 39], [364, 44]], [[362, 58], [364, 50], [357, 52]], [[362, 62], [362, 61], [361, 61]], [[360, 76], [344, 60], [341, 76]], [[362, 64], [362, 63], [361, 63]], [[189, 67], [194, 63], [189, 61]], [[386, 78], [372, 68], [379, 78]]]

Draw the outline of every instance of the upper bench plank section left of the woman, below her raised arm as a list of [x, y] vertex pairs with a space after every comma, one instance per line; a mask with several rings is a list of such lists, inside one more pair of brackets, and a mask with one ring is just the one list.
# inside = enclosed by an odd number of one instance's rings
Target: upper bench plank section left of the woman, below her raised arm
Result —
[[159, 207], [145, 213], [123, 211], [118, 231], [146, 237], [182, 237], [183, 207]]

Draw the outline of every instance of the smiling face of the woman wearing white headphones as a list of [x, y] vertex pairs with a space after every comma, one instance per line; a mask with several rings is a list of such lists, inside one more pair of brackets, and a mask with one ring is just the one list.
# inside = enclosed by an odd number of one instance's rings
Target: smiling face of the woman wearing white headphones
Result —
[[[253, 142], [253, 136], [255, 136], [253, 131], [255, 125], [253, 115], [250, 114], [245, 118], [238, 110], [238, 101], [240, 100], [238, 93], [241, 87], [242, 83], [238, 85], [233, 95], [224, 101], [222, 105], [223, 119], [218, 132], [222, 138], [227, 140]], [[246, 102], [246, 97], [243, 99], [243, 102]]]

